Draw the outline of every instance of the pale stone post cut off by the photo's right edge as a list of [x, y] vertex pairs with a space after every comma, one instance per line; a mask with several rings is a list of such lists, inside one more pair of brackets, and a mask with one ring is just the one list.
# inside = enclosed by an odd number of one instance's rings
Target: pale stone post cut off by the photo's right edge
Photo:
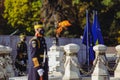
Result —
[[[116, 46], [115, 48], [117, 50], [118, 58], [120, 59], [120, 45]], [[120, 60], [119, 60], [118, 65], [117, 65], [117, 67], [115, 69], [114, 76], [115, 76], [115, 78], [120, 79]]]

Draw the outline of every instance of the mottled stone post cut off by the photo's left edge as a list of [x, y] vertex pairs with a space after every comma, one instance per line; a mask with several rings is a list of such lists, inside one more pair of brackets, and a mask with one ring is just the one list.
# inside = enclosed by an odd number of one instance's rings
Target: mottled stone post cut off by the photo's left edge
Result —
[[0, 45], [0, 80], [6, 80], [15, 75], [10, 57], [11, 51], [10, 47]]

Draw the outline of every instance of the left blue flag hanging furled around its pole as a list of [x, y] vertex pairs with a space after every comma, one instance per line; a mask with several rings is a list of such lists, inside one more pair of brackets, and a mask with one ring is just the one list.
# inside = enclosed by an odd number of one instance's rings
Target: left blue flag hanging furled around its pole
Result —
[[95, 59], [95, 53], [93, 51], [92, 27], [89, 22], [88, 11], [86, 12], [86, 26], [84, 28], [82, 43], [86, 45], [88, 63], [93, 62], [93, 60]]

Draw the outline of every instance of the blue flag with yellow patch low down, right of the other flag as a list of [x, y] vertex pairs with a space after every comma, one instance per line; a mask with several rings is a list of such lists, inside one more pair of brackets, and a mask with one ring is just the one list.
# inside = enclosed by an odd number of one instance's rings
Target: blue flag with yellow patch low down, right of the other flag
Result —
[[92, 34], [93, 34], [94, 45], [104, 44], [101, 29], [100, 29], [100, 25], [99, 25], [99, 22], [98, 22], [97, 12], [94, 12]]

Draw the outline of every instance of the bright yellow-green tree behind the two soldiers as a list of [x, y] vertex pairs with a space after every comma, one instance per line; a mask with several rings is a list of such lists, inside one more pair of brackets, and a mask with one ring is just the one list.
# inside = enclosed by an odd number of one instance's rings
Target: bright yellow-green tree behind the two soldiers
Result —
[[21, 32], [33, 32], [33, 23], [40, 20], [40, 0], [5, 0], [4, 6], [8, 24]]

